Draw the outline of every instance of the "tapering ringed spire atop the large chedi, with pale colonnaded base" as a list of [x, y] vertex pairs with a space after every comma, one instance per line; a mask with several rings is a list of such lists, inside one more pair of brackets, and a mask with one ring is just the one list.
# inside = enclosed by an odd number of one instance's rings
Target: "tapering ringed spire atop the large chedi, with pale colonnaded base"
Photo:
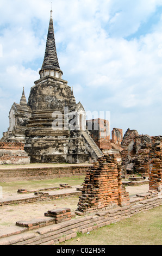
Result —
[[48, 35], [47, 35], [47, 41], [46, 41], [45, 57], [43, 60], [42, 68], [39, 71], [39, 74], [40, 74], [40, 77], [49, 75], [57, 78], [61, 78], [61, 76], [63, 75], [63, 71], [60, 70], [58, 57], [57, 57], [57, 50], [55, 46], [52, 10], [50, 15]]

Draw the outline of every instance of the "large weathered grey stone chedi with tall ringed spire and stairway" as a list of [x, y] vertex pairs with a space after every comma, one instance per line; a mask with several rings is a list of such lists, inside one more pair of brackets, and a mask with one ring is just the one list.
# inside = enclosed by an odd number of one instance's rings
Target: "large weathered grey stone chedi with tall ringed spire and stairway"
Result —
[[28, 103], [23, 90], [20, 104], [14, 103], [11, 108], [10, 126], [1, 142], [24, 143], [30, 162], [82, 163], [103, 155], [85, 129], [84, 107], [76, 103], [72, 88], [62, 78], [52, 10], [39, 75]]

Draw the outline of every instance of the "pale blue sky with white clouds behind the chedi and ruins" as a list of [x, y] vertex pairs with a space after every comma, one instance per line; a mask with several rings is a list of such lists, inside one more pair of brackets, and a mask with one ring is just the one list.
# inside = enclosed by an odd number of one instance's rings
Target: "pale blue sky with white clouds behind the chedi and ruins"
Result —
[[113, 127], [162, 135], [162, 0], [0, 0], [0, 137], [39, 79], [49, 17], [63, 79]]

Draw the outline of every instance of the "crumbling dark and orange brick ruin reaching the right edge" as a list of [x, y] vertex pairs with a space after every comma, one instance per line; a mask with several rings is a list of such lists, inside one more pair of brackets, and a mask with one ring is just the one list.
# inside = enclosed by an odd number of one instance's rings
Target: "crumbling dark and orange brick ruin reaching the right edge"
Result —
[[162, 185], [162, 137], [139, 135], [128, 129], [121, 147], [122, 172], [124, 175], [148, 176], [149, 190], [160, 192]]

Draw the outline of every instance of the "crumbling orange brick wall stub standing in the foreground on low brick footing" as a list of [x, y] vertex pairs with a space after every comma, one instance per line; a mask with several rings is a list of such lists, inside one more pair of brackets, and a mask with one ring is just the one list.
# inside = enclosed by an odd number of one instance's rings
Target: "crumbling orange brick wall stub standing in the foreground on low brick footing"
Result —
[[129, 205], [129, 194], [122, 185], [121, 164], [115, 155], [104, 155], [87, 170], [76, 214]]

